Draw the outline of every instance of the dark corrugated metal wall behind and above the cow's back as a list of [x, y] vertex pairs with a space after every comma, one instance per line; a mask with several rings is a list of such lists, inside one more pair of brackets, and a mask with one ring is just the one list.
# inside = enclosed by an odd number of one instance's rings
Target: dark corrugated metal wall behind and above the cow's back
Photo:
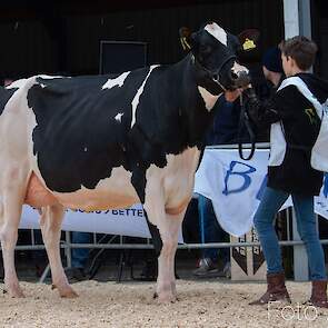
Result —
[[[261, 31], [261, 49], [277, 44], [284, 36], [281, 0], [232, 0], [167, 9], [116, 11], [103, 16], [62, 17], [60, 36], [50, 36], [40, 21], [1, 23], [0, 73], [27, 76], [67, 71], [71, 74], [97, 73], [100, 40], [131, 40], [148, 43], [148, 62], [169, 63], [182, 51], [178, 29], [197, 29], [215, 20], [238, 33], [246, 28]], [[62, 34], [61, 34], [62, 37]]]

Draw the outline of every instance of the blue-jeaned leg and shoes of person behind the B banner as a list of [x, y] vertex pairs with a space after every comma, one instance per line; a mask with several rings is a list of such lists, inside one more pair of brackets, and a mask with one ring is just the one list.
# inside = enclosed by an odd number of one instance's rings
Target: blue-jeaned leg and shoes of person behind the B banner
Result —
[[[227, 241], [228, 233], [218, 223], [211, 200], [202, 195], [199, 195], [198, 197], [198, 212], [199, 212], [201, 243]], [[220, 256], [225, 265], [229, 262], [230, 261], [229, 248], [221, 248]], [[217, 261], [218, 249], [205, 248], [202, 251], [202, 257], [210, 258], [212, 259], [212, 261]]]

